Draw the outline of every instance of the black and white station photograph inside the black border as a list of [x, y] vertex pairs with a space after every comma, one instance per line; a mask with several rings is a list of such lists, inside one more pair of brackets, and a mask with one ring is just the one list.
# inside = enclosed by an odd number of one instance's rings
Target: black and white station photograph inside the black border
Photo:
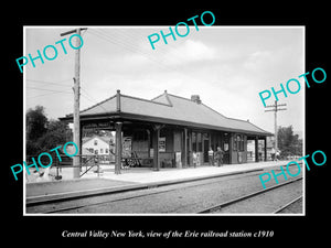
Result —
[[26, 215], [305, 215], [305, 26], [24, 35]]

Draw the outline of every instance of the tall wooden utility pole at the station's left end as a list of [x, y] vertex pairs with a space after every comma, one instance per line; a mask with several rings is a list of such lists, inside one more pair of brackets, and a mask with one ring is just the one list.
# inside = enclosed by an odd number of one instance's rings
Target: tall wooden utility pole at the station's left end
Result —
[[[87, 29], [76, 29], [71, 30], [64, 33], [61, 33], [61, 36], [77, 33], [81, 36], [81, 31]], [[76, 47], [81, 46], [81, 39], [76, 40]], [[74, 179], [78, 179], [81, 175], [81, 121], [79, 121], [79, 90], [81, 90], [81, 79], [79, 79], [79, 71], [81, 71], [81, 48], [75, 51], [75, 77], [74, 77], [74, 142], [78, 147], [78, 152], [73, 159], [74, 166]]]

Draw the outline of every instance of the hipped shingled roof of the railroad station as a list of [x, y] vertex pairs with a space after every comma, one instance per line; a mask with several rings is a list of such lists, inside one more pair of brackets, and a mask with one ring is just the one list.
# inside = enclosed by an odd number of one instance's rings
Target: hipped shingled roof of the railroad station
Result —
[[[201, 103], [199, 96], [197, 100], [192, 100], [168, 94], [167, 90], [151, 100], [122, 95], [117, 90], [116, 95], [82, 110], [79, 114], [82, 120], [109, 118], [111, 116], [193, 128], [273, 136], [273, 133], [249, 121], [223, 116]], [[73, 115], [71, 114], [60, 119], [68, 120], [72, 118]]]

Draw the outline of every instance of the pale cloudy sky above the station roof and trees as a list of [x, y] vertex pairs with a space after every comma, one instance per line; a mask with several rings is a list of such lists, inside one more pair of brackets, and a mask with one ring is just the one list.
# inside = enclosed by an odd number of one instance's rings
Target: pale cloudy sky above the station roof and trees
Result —
[[[170, 25], [169, 25], [170, 26]], [[169, 26], [87, 26], [82, 31], [81, 110], [116, 94], [152, 99], [166, 89], [190, 98], [200, 95], [203, 104], [229, 118], [249, 120], [274, 132], [274, 112], [265, 112], [259, 98], [263, 90], [280, 89], [290, 78], [301, 83], [298, 94], [279, 94], [278, 126], [305, 129], [305, 29], [302, 26], [199, 26], [175, 41], [162, 37], [152, 50], [148, 36]], [[35, 60], [24, 66], [25, 111], [45, 107], [49, 119], [73, 112], [75, 50], [68, 44], [72, 34], [61, 33], [78, 26], [25, 26], [24, 54], [38, 56], [54, 45], [57, 56]], [[86, 26], [82, 26], [86, 28]], [[172, 26], [172, 29], [174, 29]], [[184, 29], [179, 29], [185, 33]], [[161, 35], [160, 35], [161, 36]], [[66, 39], [63, 45], [55, 42]], [[74, 41], [75, 37], [72, 40]], [[73, 43], [74, 44], [74, 43]], [[54, 56], [52, 48], [46, 50]], [[18, 67], [19, 69], [19, 67]], [[291, 85], [292, 90], [297, 86]], [[266, 100], [274, 105], [274, 96]]]

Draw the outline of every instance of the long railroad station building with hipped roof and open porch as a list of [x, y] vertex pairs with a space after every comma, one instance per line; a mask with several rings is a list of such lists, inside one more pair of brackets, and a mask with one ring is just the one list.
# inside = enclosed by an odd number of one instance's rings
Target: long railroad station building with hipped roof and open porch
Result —
[[[73, 115], [60, 119], [72, 122]], [[258, 162], [258, 141], [266, 144], [266, 138], [273, 136], [249, 121], [223, 116], [204, 105], [199, 95], [189, 99], [167, 90], [151, 100], [117, 90], [108, 99], [82, 110], [79, 119], [81, 133], [88, 128], [116, 131], [115, 173], [120, 173], [124, 158], [134, 153], [141, 166], [156, 171], [193, 166], [193, 152], [196, 165], [209, 164], [207, 151], [216, 151], [217, 147], [224, 151], [224, 164], [246, 163], [247, 140], [254, 140], [254, 160]], [[266, 145], [261, 159], [267, 159]]]

